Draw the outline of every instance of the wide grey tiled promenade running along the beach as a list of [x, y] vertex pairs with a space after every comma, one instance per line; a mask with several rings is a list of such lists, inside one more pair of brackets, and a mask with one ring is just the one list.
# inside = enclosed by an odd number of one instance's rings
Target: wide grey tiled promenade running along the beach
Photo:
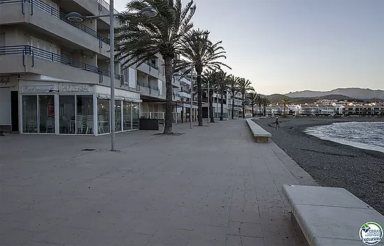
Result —
[[[245, 120], [0, 138], [0, 245], [301, 245], [282, 184], [312, 184]], [[91, 152], [85, 148], [96, 149]]]

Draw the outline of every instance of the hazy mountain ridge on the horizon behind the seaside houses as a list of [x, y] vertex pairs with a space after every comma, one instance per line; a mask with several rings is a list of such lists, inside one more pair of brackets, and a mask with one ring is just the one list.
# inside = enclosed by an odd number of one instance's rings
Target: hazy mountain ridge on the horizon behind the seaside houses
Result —
[[320, 96], [341, 95], [352, 99], [384, 99], [384, 90], [382, 89], [362, 89], [362, 88], [337, 88], [329, 92], [315, 92], [304, 90], [301, 92], [290, 92], [286, 96], [292, 98], [312, 98]]

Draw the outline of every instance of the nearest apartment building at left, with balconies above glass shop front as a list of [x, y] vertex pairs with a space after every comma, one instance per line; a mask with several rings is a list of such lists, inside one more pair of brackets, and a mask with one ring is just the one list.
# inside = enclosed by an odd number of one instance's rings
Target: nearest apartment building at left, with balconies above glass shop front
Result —
[[[108, 14], [103, 0], [0, 1], [0, 127], [20, 133], [100, 135], [138, 129], [140, 91], [143, 99], [156, 91], [161, 69], [158, 57], [138, 68], [115, 61], [110, 74], [109, 20], [82, 23], [66, 20]], [[141, 71], [149, 71], [142, 75]], [[110, 107], [110, 76], [115, 79], [115, 108]], [[136, 78], [138, 80], [136, 80]], [[140, 84], [142, 82], [142, 84]], [[146, 84], [144, 84], [144, 82]], [[149, 87], [154, 86], [154, 87]], [[156, 87], [157, 86], [157, 87]], [[115, 110], [116, 122], [110, 122]]]

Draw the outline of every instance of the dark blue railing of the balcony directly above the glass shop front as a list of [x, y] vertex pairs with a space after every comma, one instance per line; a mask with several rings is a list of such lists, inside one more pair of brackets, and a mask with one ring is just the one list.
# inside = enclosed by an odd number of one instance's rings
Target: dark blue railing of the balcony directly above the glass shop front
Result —
[[[103, 82], [103, 75], [110, 77], [110, 71], [103, 70], [97, 66], [90, 64], [85, 64], [84, 62], [71, 59], [69, 57], [64, 57], [62, 55], [57, 55], [55, 53], [36, 48], [31, 45], [13, 45], [13, 46], [0, 46], [0, 55], [16, 55], [22, 54], [22, 63], [25, 64], [25, 56], [29, 55], [32, 58], [31, 66], [35, 66], [35, 57], [40, 57], [50, 61], [60, 62], [61, 64], [66, 64], [68, 66], [73, 66], [75, 68], [80, 68], [84, 71], [89, 71], [91, 73], [97, 73], [99, 75], [100, 81]], [[115, 79], [122, 80], [122, 76], [115, 74]]]

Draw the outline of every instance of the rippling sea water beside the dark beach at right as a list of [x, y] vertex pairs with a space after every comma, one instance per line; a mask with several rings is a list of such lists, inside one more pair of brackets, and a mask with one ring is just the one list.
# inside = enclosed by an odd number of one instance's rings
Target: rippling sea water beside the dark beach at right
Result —
[[339, 122], [311, 126], [304, 132], [324, 140], [384, 152], [384, 122]]

